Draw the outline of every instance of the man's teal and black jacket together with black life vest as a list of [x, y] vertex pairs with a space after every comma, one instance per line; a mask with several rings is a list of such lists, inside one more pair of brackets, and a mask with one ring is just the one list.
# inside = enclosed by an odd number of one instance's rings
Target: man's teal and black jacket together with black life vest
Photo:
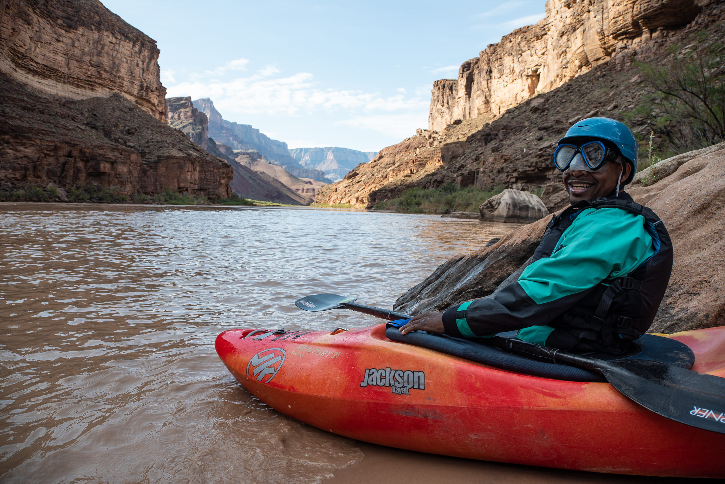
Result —
[[663, 299], [672, 244], [660, 218], [627, 193], [552, 217], [532, 262], [494, 297], [447, 309], [448, 335], [518, 338], [572, 351], [625, 351]]

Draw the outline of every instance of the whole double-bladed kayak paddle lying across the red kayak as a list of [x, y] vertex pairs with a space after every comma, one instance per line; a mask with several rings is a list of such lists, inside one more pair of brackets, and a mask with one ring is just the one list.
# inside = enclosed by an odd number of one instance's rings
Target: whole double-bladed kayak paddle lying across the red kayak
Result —
[[[294, 304], [305, 311], [352, 309], [384, 320], [407, 320], [412, 317], [354, 304], [353, 301], [355, 298], [336, 294], [314, 294], [298, 299]], [[599, 372], [614, 388], [646, 409], [685, 425], [725, 433], [725, 378], [646, 359], [605, 361], [515, 338], [494, 336], [481, 338], [481, 343], [510, 353]]]

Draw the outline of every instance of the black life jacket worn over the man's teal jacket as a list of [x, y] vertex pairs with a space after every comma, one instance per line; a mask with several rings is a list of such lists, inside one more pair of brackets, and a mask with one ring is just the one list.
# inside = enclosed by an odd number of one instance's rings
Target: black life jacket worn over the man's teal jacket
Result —
[[577, 353], [621, 354], [629, 349], [631, 341], [647, 332], [655, 319], [672, 272], [672, 241], [655, 212], [634, 203], [629, 194], [620, 193], [616, 198], [580, 201], [553, 217], [531, 262], [550, 257], [576, 215], [590, 208], [618, 208], [642, 215], [645, 230], [653, 238], [655, 254], [628, 275], [602, 280], [589, 289], [579, 304], [549, 323], [555, 329], [546, 344]]

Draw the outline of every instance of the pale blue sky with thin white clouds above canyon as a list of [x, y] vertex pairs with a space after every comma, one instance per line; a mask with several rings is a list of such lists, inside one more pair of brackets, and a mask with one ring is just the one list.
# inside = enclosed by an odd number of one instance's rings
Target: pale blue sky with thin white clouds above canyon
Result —
[[378, 151], [428, 128], [431, 86], [544, 17], [543, 0], [103, 0], [157, 41], [167, 96], [290, 148]]

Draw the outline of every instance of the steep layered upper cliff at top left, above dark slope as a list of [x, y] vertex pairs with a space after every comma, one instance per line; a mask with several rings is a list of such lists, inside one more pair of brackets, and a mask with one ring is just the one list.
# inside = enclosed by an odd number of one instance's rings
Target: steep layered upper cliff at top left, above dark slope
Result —
[[165, 120], [156, 42], [97, 0], [0, 4], [0, 72], [67, 99], [120, 93]]

